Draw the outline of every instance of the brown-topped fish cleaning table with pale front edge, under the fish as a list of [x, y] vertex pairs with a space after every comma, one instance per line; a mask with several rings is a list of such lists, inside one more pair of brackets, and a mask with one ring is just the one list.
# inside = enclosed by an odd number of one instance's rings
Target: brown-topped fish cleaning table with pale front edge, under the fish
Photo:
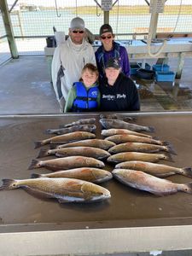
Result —
[[[130, 114], [131, 115], [131, 114]], [[192, 113], [132, 113], [138, 125], [152, 125], [154, 136], [169, 141], [177, 151], [171, 166], [192, 166]], [[0, 177], [25, 179], [44, 168], [27, 170], [38, 155], [34, 142], [56, 129], [99, 113], [17, 115], [0, 117]], [[113, 166], [106, 166], [112, 170]], [[168, 177], [189, 183], [189, 177]], [[178, 192], [157, 197], [131, 189], [117, 180], [101, 184], [111, 199], [91, 204], [59, 204], [40, 200], [23, 189], [0, 191], [1, 255], [56, 255], [148, 252], [192, 248], [192, 195]]]

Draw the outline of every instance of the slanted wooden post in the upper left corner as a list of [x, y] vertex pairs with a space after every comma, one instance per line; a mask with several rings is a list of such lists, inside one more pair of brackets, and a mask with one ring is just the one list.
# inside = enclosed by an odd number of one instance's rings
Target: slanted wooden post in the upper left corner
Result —
[[10, 49], [11, 55], [14, 59], [17, 59], [19, 58], [19, 55], [18, 55], [16, 44], [15, 44], [14, 31], [11, 25], [7, 0], [0, 1], [0, 9], [3, 14], [2, 15], [3, 22], [4, 22], [5, 31], [8, 37], [9, 49]]

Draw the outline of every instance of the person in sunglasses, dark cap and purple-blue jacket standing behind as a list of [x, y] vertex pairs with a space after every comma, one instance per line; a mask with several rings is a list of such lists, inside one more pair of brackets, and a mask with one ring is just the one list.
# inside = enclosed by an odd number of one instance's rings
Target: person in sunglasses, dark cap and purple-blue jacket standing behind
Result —
[[119, 59], [122, 73], [125, 76], [130, 76], [130, 63], [129, 57], [125, 47], [114, 42], [113, 29], [110, 25], [104, 24], [100, 28], [100, 39], [102, 46], [96, 50], [96, 65], [99, 70], [100, 81], [105, 77], [106, 62], [110, 58]]

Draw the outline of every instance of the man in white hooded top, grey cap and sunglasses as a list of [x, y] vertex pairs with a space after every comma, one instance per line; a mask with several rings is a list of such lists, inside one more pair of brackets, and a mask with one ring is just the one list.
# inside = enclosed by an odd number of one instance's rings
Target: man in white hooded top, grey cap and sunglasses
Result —
[[84, 20], [71, 20], [68, 35], [67, 41], [56, 47], [52, 61], [52, 80], [62, 112], [68, 91], [79, 81], [84, 65], [96, 65], [94, 50], [85, 40]]

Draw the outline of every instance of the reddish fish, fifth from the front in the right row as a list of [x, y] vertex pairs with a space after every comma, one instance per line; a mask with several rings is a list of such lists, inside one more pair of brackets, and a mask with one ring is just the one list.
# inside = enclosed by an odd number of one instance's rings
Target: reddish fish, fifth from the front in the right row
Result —
[[156, 144], [156, 145], [169, 145], [170, 143], [159, 141], [154, 138], [149, 137], [139, 137], [130, 134], [116, 134], [110, 137], [106, 137], [105, 140], [110, 142], [120, 144], [120, 143], [149, 143], [149, 144]]

